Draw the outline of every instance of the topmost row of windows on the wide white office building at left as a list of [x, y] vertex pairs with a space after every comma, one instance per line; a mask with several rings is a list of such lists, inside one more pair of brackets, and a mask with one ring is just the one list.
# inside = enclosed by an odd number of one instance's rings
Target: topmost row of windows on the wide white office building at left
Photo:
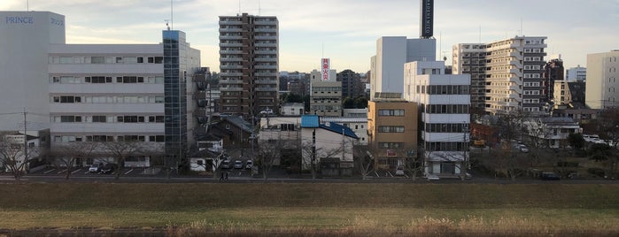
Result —
[[50, 57], [49, 63], [53, 65], [73, 64], [163, 64], [163, 57]]

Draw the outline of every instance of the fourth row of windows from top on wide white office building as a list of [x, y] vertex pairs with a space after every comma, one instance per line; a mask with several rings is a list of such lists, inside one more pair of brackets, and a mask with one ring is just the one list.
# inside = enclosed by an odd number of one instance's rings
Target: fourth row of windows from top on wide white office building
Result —
[[62, 115], [53, 116], [50, 118], [52, 123], [163, 123], [164, 116], [136, 116], [136, 115], [121, 115], [121, 116], [81, 116], [81, 115]]

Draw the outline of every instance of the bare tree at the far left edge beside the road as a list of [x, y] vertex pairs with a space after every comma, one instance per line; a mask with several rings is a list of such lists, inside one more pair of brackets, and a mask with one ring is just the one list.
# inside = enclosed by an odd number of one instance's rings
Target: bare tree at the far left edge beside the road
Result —
[[26, 150], [23, 142], [13, 141], [7, 135], [0, 134], [0, 163], [4, 164], [4, 169], [11, 172], [13, 178], [19, 182], [26, 174], [28, 165], [38, 159], [39, 152], [36, 148]]

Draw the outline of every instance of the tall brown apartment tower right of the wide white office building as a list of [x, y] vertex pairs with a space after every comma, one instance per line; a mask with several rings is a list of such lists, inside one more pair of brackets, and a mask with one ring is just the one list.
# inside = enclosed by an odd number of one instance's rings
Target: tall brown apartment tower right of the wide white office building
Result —
[[279, 30], [273, 16], [220, 17], [220, 111], [245, 119], [278, 106]]

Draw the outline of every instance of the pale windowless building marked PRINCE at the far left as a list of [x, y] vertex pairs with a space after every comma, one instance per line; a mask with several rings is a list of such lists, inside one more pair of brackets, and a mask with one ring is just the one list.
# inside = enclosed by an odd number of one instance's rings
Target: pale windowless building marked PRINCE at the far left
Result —
[[[65, 16], [49, 11], [0, 11], [1, 131], [50, 128], [48, 58], [65, 43]], [[11, 114], [12, 113], [12, 114]]]

